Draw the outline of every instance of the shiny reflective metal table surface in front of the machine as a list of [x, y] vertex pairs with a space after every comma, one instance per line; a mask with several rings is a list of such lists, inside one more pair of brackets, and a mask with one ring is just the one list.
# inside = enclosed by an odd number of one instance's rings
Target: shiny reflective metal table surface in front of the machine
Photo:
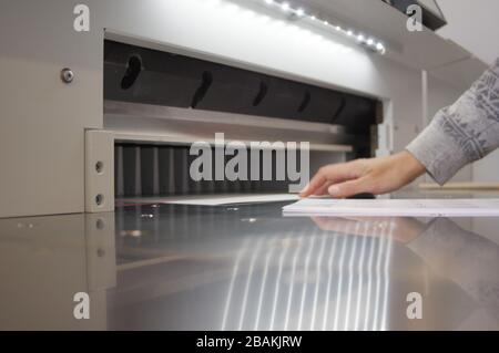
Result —
[[499, 329], [499, 219], [283, 218], [282, 206], [2, 219], [0, 329]]

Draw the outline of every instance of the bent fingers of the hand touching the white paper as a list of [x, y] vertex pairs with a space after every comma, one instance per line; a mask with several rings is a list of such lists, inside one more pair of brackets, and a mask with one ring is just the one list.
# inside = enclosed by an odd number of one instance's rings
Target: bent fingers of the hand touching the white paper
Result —
[[322, 167], [302, 190], [299, 196], [307, 197], [310, 195], [326, 194], [328, 185], [358, 177], [357, 169], [356, 162]]

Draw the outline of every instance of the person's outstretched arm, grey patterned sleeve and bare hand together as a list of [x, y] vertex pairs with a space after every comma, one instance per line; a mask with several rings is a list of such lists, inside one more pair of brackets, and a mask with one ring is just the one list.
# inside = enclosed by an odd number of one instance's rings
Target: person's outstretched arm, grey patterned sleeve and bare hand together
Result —
[[301, 196], [394, 191], [428, 172], [439, 184], [462, 166], [499, 147], [499, 59], [406, 150], [383, 158], [357, 159], [319, 169]]

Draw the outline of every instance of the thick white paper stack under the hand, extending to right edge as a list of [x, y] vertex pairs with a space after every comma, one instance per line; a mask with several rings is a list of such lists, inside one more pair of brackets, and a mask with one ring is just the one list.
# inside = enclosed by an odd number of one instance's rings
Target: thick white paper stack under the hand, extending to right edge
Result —
[[499, 199], [306, 198], [283, 208], [284, 216], [499, 217]]

